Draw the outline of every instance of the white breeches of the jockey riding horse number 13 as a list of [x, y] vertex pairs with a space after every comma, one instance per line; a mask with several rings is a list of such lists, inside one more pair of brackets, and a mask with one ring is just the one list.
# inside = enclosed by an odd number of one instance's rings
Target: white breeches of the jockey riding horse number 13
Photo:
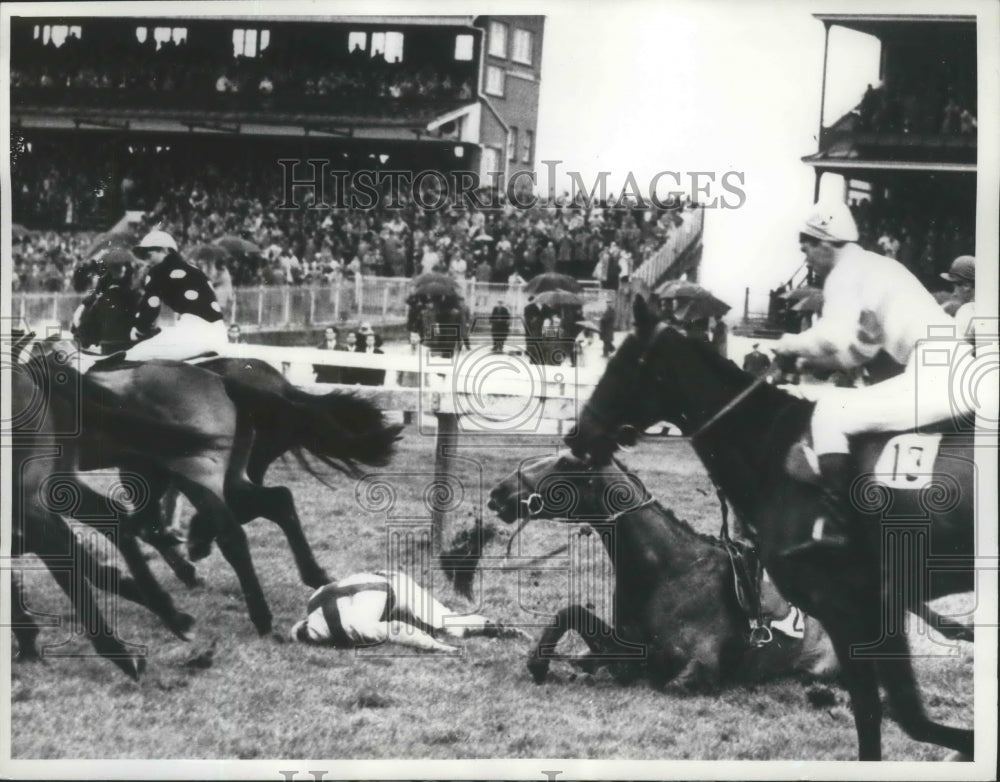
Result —
[[[864, 433], [899, 432], [951, 418], [996, 422], [996, 398], [978, 384], [983, 369], [996, 372], [997, 347], [944, 342], [921, 344], [906, 370], [866, 388], [829, 388], [813, 412], [813, 448], [817, 454], [848, 453], [848, 437]], [[987, 371], [986, 374], [989, 374]]]

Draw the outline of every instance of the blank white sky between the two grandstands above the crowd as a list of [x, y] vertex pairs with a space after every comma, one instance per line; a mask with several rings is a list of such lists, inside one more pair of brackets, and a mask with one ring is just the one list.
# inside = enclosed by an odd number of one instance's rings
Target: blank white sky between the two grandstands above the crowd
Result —
[[[744, 172], [743, 207], [706, 215], [701, 279], [734, 316], [750, 286], [753, 309], [802, 260], [797, 222], [812, 204], [814, 178], [800, 158], [817, 150], [823, 72], [816, 8], [587, 7], [594, 12], [550, 13], [546, 21], [538, 160], [563, 160], [561, 171], [580, 171], [588, 183], [609, 171], [616, 193], [629, 171], [643, 189], [662, 170]], [[876, 81], [878, 56], [876, 39], [834, 28], [826, 124]], [[546, 184], [541, 165], [539, 183]], [[568, 183], [563, 176], [558, 190]], [[727, 195], [718, 185], [716, 192]]]

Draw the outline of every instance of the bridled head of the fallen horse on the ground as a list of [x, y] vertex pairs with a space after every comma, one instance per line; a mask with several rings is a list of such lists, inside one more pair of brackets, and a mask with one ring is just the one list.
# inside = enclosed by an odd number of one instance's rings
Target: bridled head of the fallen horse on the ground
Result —
[[649, 492], [617, 461], [592, 466], [570, 454], [526, 459], [490, 492], [507, 524], [528, 519], [603, 522], [645, 502]]

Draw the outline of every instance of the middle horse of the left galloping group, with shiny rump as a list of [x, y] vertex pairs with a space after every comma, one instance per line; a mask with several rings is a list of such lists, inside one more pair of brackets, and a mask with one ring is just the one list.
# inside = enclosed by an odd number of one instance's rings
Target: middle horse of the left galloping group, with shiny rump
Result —
[[[58, 343], [46, 343], [41, 348], [49, 357], [59, 349]], [[117, 395], [125, 409], [139, 410], [148, 417], [179, 423], [217, 438], [218, 444], [212, 448], [183, 459], [166, 460], [165, 469], [148, 460], [114, 465], [142, 476], [154, 500], [129, 519], [125, 531], [138, 534], [140, 529], [155, 528], [160, 521], [159, 503], [155, 500], [171, 486], [180, 489], [197, 511], [192, 526], [207, 530], [205, 538], [219, 544], [236, 571], [250, 619], [262, 635], [271, 630], [271, 612], [253, 567], [246, 534], [237, 520], [255, 517], [255, 503], [262, 502], [262, 496], [264, 501], [274, 496], [268, 494], [271, 490], [262, 489], [247, 477], [256, 428], [278, 432], [281, 438], [288, 438], [282, 442], [291, 441], [323, 456], [349, 459], [349, 454], [364, 458], [377, 454], [372, 457], [376, 461], [388, 458], [398, 433], [397, 429], [385, 427], [354, 435], [327, 413], [318, 397], [313, 398], [315, 404], [310, 404], [304, 392], [302, 398], [289, 397], [239, 378], [221, 377], [174, 361], [115, 363], [92, 369], [86, 377]], [[100, 451], [85, 446], [81, 449], [81, 469], [109, 466]], [[305, 548], [308, 551], [307, 545]], [[312, 575], [319, 581], [325, 574], [316, 568]], [[159, 591], [162, 593], [162, 589]]]

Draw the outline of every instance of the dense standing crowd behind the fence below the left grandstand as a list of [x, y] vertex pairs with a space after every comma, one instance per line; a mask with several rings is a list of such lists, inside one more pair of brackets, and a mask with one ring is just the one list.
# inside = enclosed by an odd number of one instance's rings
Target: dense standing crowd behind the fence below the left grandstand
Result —
[[[136, 159], [117, 184], [118, 197], [126, 208], [145, 212], [147, 227], [156, 225], [175, 236], [182, 253], [223, 236], [257, 245], [259, 255], [231, 264], [234, 285], [324, 284], [345, 275], [414, 276], [429, 271], [517, 283], [557, 271], [617, 288], [670, 240], [686, 213], [619, 206], [612, 199], [587, 208], [582, 198], [574, 202], [566, 193], [529, 209], [515, 208], [501, 198], [497, 208], [453, 200], [446, 208], [426, 210], [405, 188], [367, 209], [307, 209], [312, 198], [308, 191], [296, 196], [303, 208], [281, 209], [277, 166], [274, 171], [251, 170], [237, 159], [198, 160], [193, 165], [188, 161], [185, 166], [181, 155], [167, 160], [160, 154], [153, 150]], [[81, 157], [76, 168], [62, 161], [51, 169], [21, 168], [19, 163], [15, 222], [37, 224], [50, 200], [41, 196], [50, 191], [51, 199], [62, 203], [66, 194], [59, 192], [60, 183], [79, 185], [91, 196], [114, 195], [106, 167], [93, 156]], [[46, 172], [51, 181], [40, 185], [22, 170]], [[27, 269], [40, 252], [44, 254], [30, 236], [15, 248], [22, 289], [37, 289], [29, 283], [35, 276]]]

